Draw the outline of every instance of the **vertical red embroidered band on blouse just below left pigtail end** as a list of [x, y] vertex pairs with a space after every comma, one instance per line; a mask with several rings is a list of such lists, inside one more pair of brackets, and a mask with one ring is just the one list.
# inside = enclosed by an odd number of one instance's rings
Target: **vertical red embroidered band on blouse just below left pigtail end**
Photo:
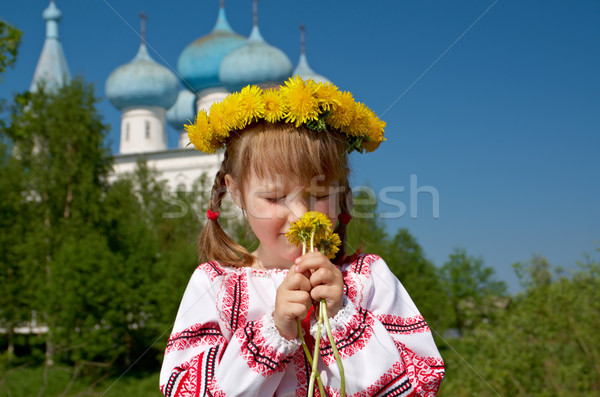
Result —
[[221, 321], [227, 329], [235, 332], [238, 328], [246, 325], [248, 317], [248, 274], [227, 273], [221, 289]]

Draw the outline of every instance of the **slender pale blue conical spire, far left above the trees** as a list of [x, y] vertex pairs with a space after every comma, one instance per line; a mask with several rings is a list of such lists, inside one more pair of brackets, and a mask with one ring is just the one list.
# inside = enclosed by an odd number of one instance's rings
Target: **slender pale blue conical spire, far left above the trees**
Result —
[[33, 74], [29, 88], [31, 92], [37, 91], [38, 85], [42, 82], [48, 89], [54, 90], [71, 78], [67, 59], [58, 38], [58, 23], [61, 16], [62, 13], [54, 4], [54, 0], [42, 13], [42, 17], [46, 20], [46, 40]]

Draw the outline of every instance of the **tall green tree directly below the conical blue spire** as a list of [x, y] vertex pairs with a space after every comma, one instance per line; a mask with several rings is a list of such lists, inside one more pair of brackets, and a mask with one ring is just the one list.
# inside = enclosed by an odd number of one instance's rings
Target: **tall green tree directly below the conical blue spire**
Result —
[[3, 129], [11, 140], [11, 155], [22, 172], [21, 197], [27, 227], [15, 247], [19, 266], [30, 282], [28, 306], [43, 313], [49, 326], [47, 362], [52, 363], [62, 309], [65, 275], [56, 253], [67, 237], [85, 236], [101, 219], [100, 204], [107, 185], [111, 157], [104, 138], [108, 127], [96, 111], [93, 87], [82, 79], [50, 92], [18, 95]]

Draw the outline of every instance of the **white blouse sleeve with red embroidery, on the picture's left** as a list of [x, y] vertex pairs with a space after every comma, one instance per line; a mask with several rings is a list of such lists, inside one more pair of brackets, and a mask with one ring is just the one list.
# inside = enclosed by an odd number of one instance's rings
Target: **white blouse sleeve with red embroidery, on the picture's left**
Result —
[[216, 304], [221, 283], [201, 267], [192, 275], [160, 372], [167, 397], [273, 395], [300, 347], [279, 335], [271, 315], [223, 332]]

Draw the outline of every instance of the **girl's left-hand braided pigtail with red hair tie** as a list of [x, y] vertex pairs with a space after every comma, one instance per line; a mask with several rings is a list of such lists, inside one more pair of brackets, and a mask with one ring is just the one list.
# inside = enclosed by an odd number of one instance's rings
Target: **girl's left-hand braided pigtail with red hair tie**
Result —
[[[254, 257], [236, 243], [221, 228], [218, 220], [218, 212], [221, 208], [223, 197], [227, 193], [225, 185], [225, 175], [228, 169], [228, 154], [225, 151], [225, 157], [221, 163], [221, 168], [215, 176], [210, 200], [208, 202], [208, 213], [212, 216], [206, 222], [200, 238], [198, 239], [198, 254], [201, 260], [218, 261], [222, 264], [235, 266], [250, 266]], [[216, 214], [216, 216], [214, 216]]]

